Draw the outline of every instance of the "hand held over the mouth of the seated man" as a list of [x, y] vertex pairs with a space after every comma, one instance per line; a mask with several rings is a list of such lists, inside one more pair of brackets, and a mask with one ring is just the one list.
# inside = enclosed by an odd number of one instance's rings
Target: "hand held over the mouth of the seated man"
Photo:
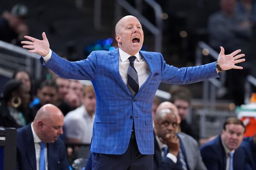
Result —
[[175, 156], [178, 156], [180, 149], [180, 140], [179, 138], [172, 133], [166, 135], [165, 140], [166, 145], [168, 146], [169, 153], [172, 153]]

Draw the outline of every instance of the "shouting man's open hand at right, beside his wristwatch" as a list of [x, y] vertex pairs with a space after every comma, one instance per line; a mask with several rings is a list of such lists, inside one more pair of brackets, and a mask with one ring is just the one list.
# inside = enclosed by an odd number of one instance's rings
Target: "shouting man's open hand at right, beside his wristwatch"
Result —
[[[231, 54], [225, 55], [224, 54], [224, 48], [221, 47], [221, 52], [218, 55], [218, 64], [221, 67], [222, 70], [229, 70], [229, 69], [243, 69], [241, 66], [237, 66], [235, 64], [244, 62], [245, 59], [239, 59], [241, 57], [244, 57], [244, 54], [238, 54], [241, 52], [241, 50], [236, 50]], [[238, 55], [236, 55], [238, 54]]]

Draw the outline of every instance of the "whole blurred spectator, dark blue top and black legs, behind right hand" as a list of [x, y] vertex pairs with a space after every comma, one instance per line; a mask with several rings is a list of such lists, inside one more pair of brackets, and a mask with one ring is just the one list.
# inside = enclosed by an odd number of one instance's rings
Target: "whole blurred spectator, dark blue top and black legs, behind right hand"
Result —
[[[225, 54], [241, 49], [247, 54], [247, 62], [254, 57], [250, 55], [250, 43], [253, 37], [252, 24], [245, 15], [236, 13], [236, 0], [221, 0], [221, 11], [212, 14], [208, 19], [209, 45], [216, 51], [225, 47]], [[244, 102], [244, 81], [248, 74], [250, 63], [241, 64], [243, 71], [227, 71], [227, 87], [229, 98], [236, 105]], [[236, 81], [239, 79], [239, 81]], [[234, 85], [236, 84], [236, 85]]]

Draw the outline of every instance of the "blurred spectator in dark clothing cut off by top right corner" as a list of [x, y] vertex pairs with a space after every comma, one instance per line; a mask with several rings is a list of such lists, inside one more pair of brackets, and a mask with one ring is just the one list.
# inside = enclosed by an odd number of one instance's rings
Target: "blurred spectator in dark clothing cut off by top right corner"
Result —
[[250, 22], [255, 24], [256, 3], [253, 3], [252, 0], [238, 0], [236, 12], [238, 15], [245, 15]]

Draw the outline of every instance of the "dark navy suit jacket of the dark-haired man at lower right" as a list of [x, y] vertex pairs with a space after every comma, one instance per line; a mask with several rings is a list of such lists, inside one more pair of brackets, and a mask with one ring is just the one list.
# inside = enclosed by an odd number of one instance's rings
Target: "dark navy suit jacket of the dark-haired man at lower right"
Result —
[[[224, 147], [221, 144], [221, 136], [207, 142], [200, 150], [208, 170], [226, 170], [227, 159]], [[233, 159], [234, 170], [244, 170], [245, 155], [241, 147], [235, 150]]]

